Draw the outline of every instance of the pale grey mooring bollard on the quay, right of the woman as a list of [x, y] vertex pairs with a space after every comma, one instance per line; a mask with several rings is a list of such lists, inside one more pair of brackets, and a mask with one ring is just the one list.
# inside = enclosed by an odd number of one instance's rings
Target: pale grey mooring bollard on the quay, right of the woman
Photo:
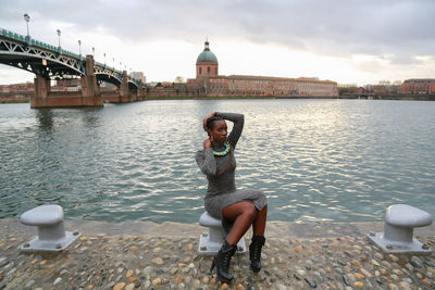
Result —
[[431, 253], [427, 244], [413, 237], [414, 227], [432, 224], [431, 214], [407, 204], [394, 204], [385, 213], [384, 232], [371, 232], [369, 239], [387, 253]]

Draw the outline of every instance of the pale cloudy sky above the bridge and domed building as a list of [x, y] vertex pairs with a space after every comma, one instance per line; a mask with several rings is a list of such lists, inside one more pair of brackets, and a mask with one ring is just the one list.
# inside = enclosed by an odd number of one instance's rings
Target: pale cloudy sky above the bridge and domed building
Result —
[[[339, 84], [435, 78], [433, 0], [2, 0], [0, 27], [148, 81], [195, 77], [208, 37], [220, 74], [319, 77]], [[114, 61], [113, 61], [114, 59]], [[33, 75], [0, 64], [0, 84]]]

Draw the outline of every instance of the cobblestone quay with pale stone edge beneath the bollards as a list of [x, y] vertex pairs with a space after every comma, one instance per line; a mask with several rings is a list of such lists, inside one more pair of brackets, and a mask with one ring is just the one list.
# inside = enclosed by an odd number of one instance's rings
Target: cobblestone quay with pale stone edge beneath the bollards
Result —
[[[435, 254], [385, 254], [365, 238], [382, 224], [268, 225], [263, 269], [236, 255], [232, 285], [210, 274], [197, 254], [204, 229], [177, 223], [66, 220], [83, 236], [58, 254], [22, 254], [36, 230], [0, 219], [0, 289], [434, 289]], [[29, 231], [30, 230], [30, 231]], [[249, 244], [250, 234], [246, 236]], [[435, 250], [434, 226], [418, 231]]]

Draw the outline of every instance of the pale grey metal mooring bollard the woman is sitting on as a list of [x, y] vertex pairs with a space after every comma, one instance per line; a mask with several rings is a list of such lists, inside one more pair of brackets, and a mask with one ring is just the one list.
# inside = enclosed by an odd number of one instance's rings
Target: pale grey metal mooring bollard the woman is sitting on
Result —
[[[225, 230], [222, 227], [221, 219], [212, 217], [204, 212], [199, 217], [199, 225], [208, 227], [209, 231], [202, 232], [199, 237], [198, 253], [200, 255], [214, 255], [219, 252], [225, 239]], [[245, 239], [241, 238], [237, 243], [237, 253], [246, 253]]]

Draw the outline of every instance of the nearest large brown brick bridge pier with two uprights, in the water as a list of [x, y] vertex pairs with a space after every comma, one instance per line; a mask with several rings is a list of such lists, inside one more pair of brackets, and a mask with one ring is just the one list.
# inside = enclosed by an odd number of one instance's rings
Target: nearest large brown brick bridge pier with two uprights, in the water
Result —
[[30, 108], [102, 106], [103, 98], [94, 74], [94, 56], [86, 55], [86, 71], [82, 76], [82, 91], [51, 91], [50, 79], [40, 75], [35, 77], [35, 96]]

